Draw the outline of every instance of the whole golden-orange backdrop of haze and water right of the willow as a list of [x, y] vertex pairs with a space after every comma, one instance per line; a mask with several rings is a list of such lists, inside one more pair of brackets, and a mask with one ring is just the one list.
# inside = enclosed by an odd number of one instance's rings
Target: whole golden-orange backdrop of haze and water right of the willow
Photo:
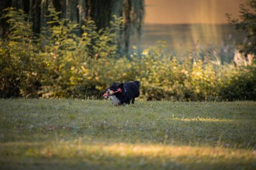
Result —
[[[239, 17], [239, 5], [247, 0], [145, 0], [145, 20], [140, 43], [143, 48], [163, 40], [171, 51], [219, 48], [232, 41], [243, 41], [228, 25], [226, 13]], [[135, 40], [135, 42], [138, 42]]]

